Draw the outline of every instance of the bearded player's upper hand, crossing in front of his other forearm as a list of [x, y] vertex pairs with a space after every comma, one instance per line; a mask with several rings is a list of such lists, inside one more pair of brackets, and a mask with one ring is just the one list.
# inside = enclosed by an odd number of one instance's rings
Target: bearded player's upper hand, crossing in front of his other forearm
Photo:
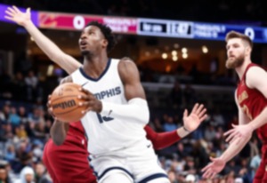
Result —
[[239, 144], [241, 139], [251, 136], [253, 132], [253, 128], [249, 125], [249, 123], [239, 125], [232, 124], [232, 127], [233, 129], [223, 133], [223, 136], [228, 136], [226, 142], [232, 143], [236, 140], [235, 143]]

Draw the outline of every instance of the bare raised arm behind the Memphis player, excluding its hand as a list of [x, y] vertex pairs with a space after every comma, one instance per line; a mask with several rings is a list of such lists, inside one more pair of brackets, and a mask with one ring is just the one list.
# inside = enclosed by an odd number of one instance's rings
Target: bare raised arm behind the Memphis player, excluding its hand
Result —
[[38, 47], [53, 60], [61, 68], [63, 68], [68, 74], [73, 73], [77, 68], [81, 66], [77, 60], [74, 60], [69, 55], [61, 51], [61, 49], [54, 44], [49, 38], [36, 28], [32, 21], [28, 20], [24, 25], [30, 36], [32, 36], [38, 45]]

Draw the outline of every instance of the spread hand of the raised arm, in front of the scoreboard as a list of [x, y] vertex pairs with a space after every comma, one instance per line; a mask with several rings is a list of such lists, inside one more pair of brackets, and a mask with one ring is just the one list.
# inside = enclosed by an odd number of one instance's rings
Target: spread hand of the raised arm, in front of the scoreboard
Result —
[[7, 8], [5, 14], [7, 14], [4, 16], [5, 19], [12, 20], [20, 26], [24, 26], [25, 23], [30, 20], [30, 8], [28, 8], [26, 12], [20, 12], [19, 8], [13, 5]]

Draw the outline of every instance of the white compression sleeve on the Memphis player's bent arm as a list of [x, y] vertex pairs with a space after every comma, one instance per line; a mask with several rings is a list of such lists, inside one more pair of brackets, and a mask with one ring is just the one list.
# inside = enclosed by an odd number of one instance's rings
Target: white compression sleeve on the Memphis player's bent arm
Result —
[[121, 105], [101, 101], [102, 116], [109, 116], [131, 122], [142, 123], [146, 125], [150, 120], [150, 110], [145, 99], [130, 99], [128, 104]]

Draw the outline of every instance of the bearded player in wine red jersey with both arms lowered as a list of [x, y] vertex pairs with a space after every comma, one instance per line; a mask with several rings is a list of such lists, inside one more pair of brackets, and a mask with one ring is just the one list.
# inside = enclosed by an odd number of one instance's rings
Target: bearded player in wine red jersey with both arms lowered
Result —
[[230, 146], [217, 158], [211, 158], [212, 163], [206, 165], [204, 177], [213, 178], [223, 170], [225, 163], [237, 155], [247, 144], [256, 131], [263, 142], [262, 162], [255, 174], [255, 183], [267, 182], [267, 73], [254, 64], [250, 57], [253, 48], [251, 39], [235, 31], [226, 36], [228, 60], [226, 68], [234, 68], [239, 76], [239, 84], [235, 92], [239, 107], [239, 125], [224, 133]]

